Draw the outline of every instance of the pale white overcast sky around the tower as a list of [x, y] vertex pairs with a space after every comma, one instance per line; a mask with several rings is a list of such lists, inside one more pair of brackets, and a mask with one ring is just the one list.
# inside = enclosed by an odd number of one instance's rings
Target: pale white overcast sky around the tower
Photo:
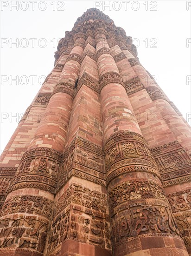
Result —
[[51, 72], [57, 41], [92, 7], [134, 39], [141, 64], [157, 77], [185, 119], [191, 112], [191, 82], [186, 82], [191, 70], [191, 1], [1, 0], [0, 5], [0, 150]]

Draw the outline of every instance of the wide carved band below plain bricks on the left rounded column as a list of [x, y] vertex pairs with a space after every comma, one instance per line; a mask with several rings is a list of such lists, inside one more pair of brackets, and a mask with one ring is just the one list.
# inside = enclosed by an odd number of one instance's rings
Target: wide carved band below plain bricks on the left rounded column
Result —
[[[30, 185], [39, 189], [48, 185], [49, 191], [56, 188], [62, 154], [51, 148], [33, 148], [25, 152], [19, 164], [10, 190]], [[22, 183], [22, 184], [21, 184]]]

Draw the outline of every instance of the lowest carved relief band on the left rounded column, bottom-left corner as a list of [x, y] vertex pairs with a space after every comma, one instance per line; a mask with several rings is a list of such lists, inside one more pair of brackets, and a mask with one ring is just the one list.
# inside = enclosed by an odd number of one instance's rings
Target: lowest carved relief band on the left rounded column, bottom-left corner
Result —
[[32, 216], [1, 220], [0, 248], [31, 249], [44, 252], [48, 222]]

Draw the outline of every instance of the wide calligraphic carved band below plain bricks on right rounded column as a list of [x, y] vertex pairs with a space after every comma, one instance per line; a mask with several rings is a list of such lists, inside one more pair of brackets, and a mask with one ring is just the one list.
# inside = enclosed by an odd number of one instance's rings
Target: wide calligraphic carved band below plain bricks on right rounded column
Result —
[[119, 132], [106, 141], [105, 163], [107, 175], [118, 168], [128, 168], [129, 165], [144, 165], [154, 168], [158, 173], [147, 142], [141, 135], [133, 132]]

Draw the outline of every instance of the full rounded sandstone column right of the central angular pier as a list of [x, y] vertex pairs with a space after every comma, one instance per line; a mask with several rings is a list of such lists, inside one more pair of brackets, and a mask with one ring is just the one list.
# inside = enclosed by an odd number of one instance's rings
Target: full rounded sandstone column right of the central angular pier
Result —
[[187, 255], [104, 31], [95, 40], [114, 255]]

